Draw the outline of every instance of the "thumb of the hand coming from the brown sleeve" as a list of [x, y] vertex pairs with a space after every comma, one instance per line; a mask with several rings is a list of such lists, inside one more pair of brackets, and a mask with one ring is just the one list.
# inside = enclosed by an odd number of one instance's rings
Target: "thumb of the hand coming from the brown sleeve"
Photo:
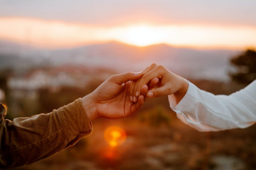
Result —
[[121, 85], [128, 81], [138, 80], [139, 78], [141, 78], [142, 75], [143, 75], [142, 72], [138, 72], [138, 73], [129, 72], [129, 73], [123, 73], [123, 74], [116, 74], [116, 75], [112, 75], [109, 78], [109, 81]]

